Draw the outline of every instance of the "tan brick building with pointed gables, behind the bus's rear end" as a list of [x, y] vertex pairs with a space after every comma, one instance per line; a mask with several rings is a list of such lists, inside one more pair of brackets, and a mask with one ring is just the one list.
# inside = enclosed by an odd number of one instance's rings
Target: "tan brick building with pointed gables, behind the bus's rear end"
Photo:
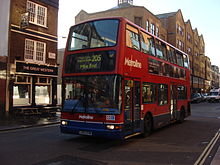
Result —
[[157, 15], [167, 29], [168, 42], [189, 55], [191, 64], [192, 92], [207, 92], [210, 89], [210, 59], [205, 56], [203, 35], [197, 28], [192, 29], [191, 22], [184, 21], [181, 10]]

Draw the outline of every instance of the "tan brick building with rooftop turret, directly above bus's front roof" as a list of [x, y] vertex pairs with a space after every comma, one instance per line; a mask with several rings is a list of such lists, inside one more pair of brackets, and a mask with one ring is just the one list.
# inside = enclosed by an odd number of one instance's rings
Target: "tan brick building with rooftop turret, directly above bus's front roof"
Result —
[[75, 17], [75, 23], [80, 23], [93, 18], [121, 16], [141, 26], [152, 34], [159, 36], [163, 40], [166, 40], [167, 31], [162, 26], [161, 21], [145, 7], [134, 6], [132, 5], [132, 2], [133, 1], [129, 0], [119, 1], [118, 6], [97, 13], [87, 13], [86, 11], [81, 10]]

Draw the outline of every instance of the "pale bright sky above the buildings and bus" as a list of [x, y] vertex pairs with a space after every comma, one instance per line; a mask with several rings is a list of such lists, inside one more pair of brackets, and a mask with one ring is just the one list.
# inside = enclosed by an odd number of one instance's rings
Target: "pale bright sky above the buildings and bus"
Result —
[[[85, 10], [100, 12], [117, 6], [118, 0], [60, 0], [58, 17], [58, 48], [64, 48], [75, 16]], [[133, 5], [144, 6], [153, 14], [175, 12], [181, 9], [184, 21], [190, 20], [205, 41], [205, 55], [212, 65], [220, 67], [220, 0], [133, 0]]]

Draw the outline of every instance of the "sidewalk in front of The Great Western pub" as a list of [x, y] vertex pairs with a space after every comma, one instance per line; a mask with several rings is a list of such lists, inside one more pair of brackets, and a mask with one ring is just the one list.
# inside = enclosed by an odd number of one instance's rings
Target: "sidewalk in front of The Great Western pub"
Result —
[[60, 122], [60, 112], [57, 112], [55, 116], [44, 116], [44, 117], [20, 116], [16, 118], [0, 120], [0, 132], [22, 129], [22, 128], [51, 125], [51, 124], [58, 124], [59, 122]]

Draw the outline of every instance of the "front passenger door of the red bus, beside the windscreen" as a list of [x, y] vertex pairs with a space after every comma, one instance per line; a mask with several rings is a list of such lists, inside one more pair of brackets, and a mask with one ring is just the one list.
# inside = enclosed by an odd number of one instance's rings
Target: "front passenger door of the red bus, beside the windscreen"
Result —
[[140, 131], [140, 81], [124, 80], [124, 132]]

